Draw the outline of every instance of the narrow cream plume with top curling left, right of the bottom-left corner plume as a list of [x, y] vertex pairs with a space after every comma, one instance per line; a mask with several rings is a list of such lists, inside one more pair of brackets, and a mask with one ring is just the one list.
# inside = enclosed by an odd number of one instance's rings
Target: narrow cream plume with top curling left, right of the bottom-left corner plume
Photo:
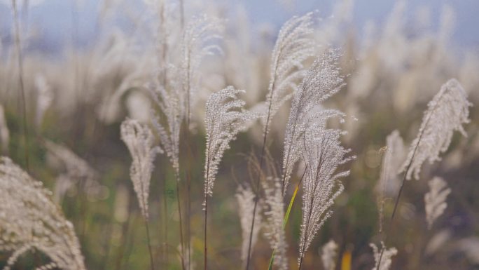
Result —
[[120, 127], [121, 140], [125, 142], [132, 156], [130, 177], [137, 193], [141, 215], [148, 220], [148, 194], [150, 191], [153, 161], [160, 147], [154, 147], [155, 137], [150, 128], [137, 120], [125, 119]]

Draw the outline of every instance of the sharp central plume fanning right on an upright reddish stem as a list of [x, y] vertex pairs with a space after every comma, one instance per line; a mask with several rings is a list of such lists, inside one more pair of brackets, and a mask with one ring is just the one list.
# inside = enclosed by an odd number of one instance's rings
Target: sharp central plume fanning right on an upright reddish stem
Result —
[[204, 195], [213, 196], [214, 180], [218, 166], [230, 141], [244, 130], [244, 123], [254, 119], [254, 115], [244, 109], [244, 101], [237, 95], [244, 90], [228, 86], [212, 93], [206, 102], [206, 159], [204, 163]]

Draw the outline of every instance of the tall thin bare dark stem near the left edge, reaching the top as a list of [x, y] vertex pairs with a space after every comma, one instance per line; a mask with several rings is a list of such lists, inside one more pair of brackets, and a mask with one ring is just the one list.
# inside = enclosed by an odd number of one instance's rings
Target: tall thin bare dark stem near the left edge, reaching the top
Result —
[[23, 57], [22, 45], [20, 43], [20, 22], [18, 19], [17, 1], [12, 0], [13, 20], [15, 21], [15, 47], [17, 48], [18, 60], [18, 82], [20, 83], [21, 107], [22, 107], [22, 126], [23, 126], [23, 143], [25, 144], [25, 166], [29, 171], [29, 142], [27, 128], [27, 102], [25, 98], [25, 85], [23, 83]]

